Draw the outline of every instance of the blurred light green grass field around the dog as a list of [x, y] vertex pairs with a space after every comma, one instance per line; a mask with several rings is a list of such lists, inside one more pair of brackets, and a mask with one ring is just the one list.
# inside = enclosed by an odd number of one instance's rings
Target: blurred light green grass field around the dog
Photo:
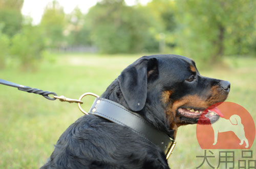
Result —
[[[12, 67], [0, 70], [0, 78], [78, 99], [84, 92], [100, 95], [123, 68], [140, 56], [58, 55], [56, 63], [42, 62], [33, 73]], [[225, 63], [228, 66], [224, 68], [198, 68], [203, 76], [230, 81], [227, 101], [242, 105], [256, 122], [256, 58], [226, 58]], [[84, 100], [83, 108], [89, 110], [92, 100]], [[82, 115], [77, 104], [49, 101], [40, 95], [0, 85], [0, 168], [38, 168], [51, 155], [61, 133]], [[251, 150], [255, 160], [255, 143]], [[212, 152], [218, 156], [217, 150]], [[197, 142], [196, 125], [180, 127], [177, 146], [168, 162], [172, 168], [196, 168], [202, 162], [196, 156], [203, 153]], [[240, 157], [241, 150], [236, 154]], [[216, 165], [218, 159], [210, 162]], [[204, 164], [201, 168], [208, 167]]]

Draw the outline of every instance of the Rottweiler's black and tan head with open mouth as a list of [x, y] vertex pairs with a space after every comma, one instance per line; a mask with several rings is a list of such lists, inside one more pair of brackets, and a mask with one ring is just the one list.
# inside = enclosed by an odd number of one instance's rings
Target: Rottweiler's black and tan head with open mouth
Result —
[[141, 57], [122, 71], [118, 82], [125, 107], [170, 129], [197, 123], [230, 89], [228, 81], [201, 76], [193, 60], [178, 55]]

